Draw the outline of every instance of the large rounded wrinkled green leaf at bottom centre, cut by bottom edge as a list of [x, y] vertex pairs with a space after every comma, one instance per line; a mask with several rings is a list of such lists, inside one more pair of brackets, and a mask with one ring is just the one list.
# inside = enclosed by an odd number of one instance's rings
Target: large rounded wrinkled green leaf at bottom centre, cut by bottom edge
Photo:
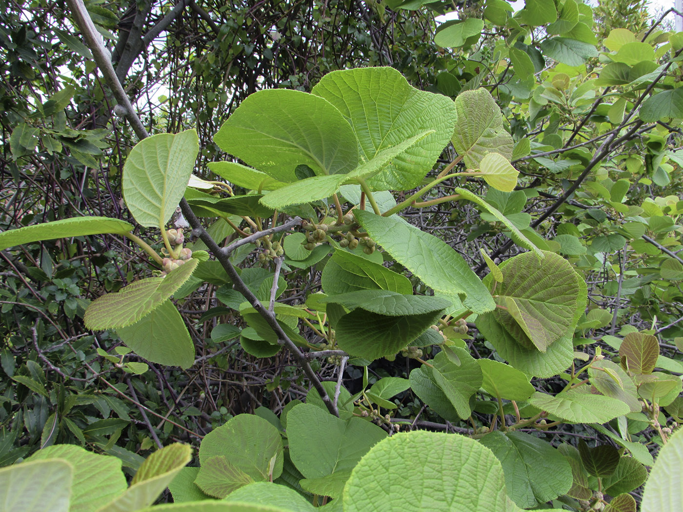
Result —
[[518, 511], [489, 449], [458, 434], [426, 431], [376, 444], [351, 472], [342, 499], [344, 512], [375, 512], [378, 503], [384, 510]]

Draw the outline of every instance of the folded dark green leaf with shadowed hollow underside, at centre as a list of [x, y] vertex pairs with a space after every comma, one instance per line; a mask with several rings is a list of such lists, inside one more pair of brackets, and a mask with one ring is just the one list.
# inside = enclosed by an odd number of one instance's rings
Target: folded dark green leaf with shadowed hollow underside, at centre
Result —
[[436, 322], [449, 301], [365, 289], [326, 299], [339, 348], [366, 359], [393, 355]]

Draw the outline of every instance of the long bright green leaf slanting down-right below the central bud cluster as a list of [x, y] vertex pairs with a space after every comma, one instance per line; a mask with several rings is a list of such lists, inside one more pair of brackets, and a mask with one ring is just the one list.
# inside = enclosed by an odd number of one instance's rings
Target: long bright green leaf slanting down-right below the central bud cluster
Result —
[[454, 249], [396, 215], [383, 217], [354, 210], [370, 236], [426, 285], [444, 295], [458, 295], [475, 313], [495, 307], [488, 289]]

